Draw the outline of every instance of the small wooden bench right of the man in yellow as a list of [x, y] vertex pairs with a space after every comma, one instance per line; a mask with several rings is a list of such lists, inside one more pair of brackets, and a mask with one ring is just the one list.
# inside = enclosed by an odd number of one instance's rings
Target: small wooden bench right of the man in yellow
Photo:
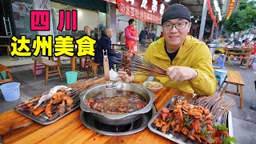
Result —
[[[224, 93], [238, 95], [240, 97], [240, 109], [242, 109], [242, 86], [244, 86], [245, 84], [242, 80], [242, 76], [239, 73], [239, 71], [227, 70], [226, 78], [224, 79], [224, 81], [222, 82], [222, 85], [219, 87], [218, 90], [222, 89], [224, 82], [226, 82], [226, 86], [222, 90], [222, 94], [220, 96], [222, 97], [222, 95]], [[236, 93], [226, 90], [226, 88], [227, 88], [227, 86], [229, 86], [229, 84], [237, 86]], [[239, 93], [239, 87], [240, 87], [240, 93]]]

